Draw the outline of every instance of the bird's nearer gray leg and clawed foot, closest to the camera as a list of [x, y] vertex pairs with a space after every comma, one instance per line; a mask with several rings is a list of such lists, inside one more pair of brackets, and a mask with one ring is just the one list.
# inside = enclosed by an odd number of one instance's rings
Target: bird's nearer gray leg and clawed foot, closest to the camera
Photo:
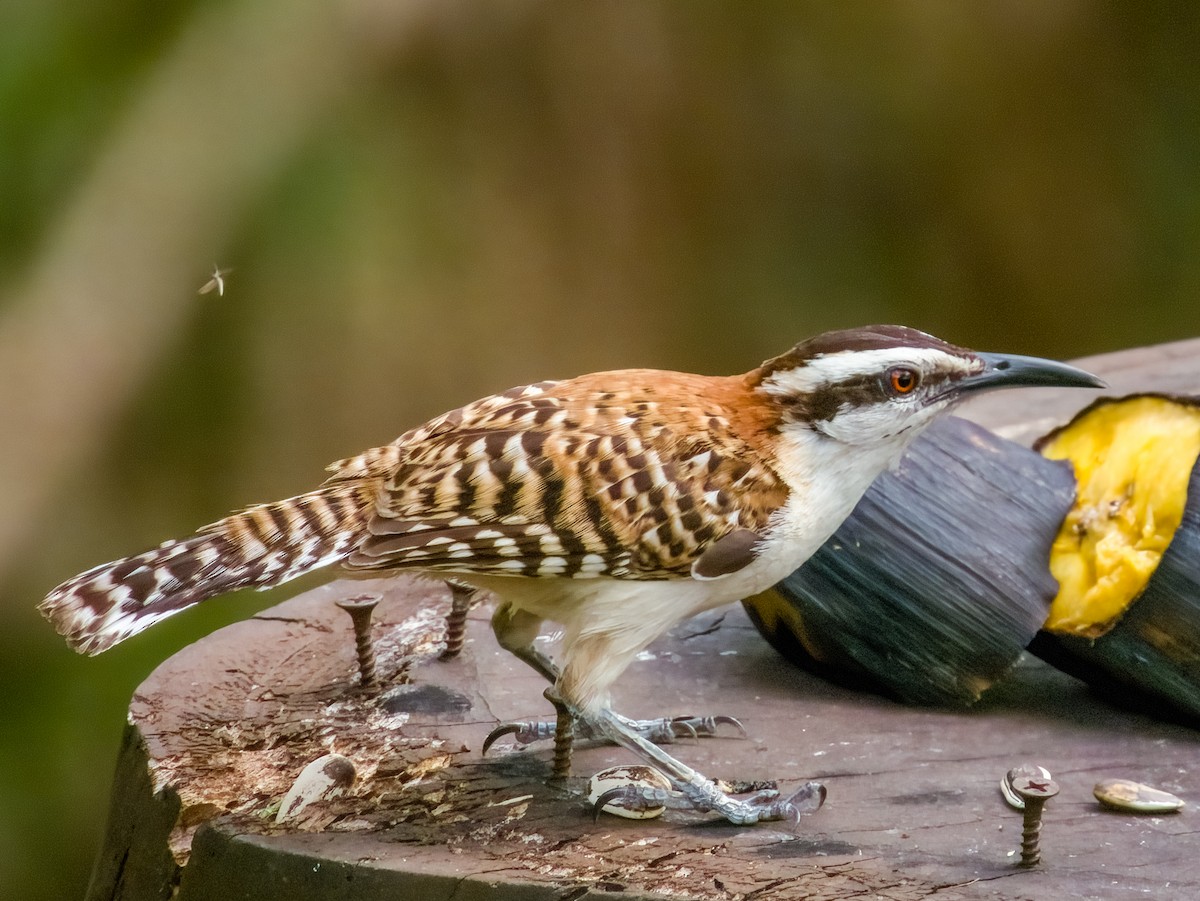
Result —
[[[569, 704], [564, 705], [569, 710], [571, 709]], [[571, 710], [571, 713], [577, 720], [586, 720], [600, 734], [622, 747], [634, 751], [656, 767], [680, 792], [686, 806], [695, 810], [715, 811], [731, 823], [750, 825], [763, 819], [787, 819], [796, 823], [800, 815], [810, 813], [824, 803], [826, 789], [820, 782], [806, 782], [787, 798], [780, 798], [779, 792], [775, 791], [758, 792], [745, 800], [731, 798], [718, 788], [710, 779], [642, 738], [629, 727], [625, 717], [612, 710], [604, 708], [587, 716], [577, 710]]]

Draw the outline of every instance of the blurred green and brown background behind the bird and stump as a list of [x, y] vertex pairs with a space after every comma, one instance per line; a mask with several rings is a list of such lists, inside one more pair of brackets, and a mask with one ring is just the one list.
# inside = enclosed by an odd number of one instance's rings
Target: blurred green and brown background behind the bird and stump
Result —
[[79, 570], [527, 380], [1200, 332], [1198, 47], [1193, 2], [6, 0], [4, 895], [82, 894], [131, 692], [298, 590], [85, 660], [34, 609]]

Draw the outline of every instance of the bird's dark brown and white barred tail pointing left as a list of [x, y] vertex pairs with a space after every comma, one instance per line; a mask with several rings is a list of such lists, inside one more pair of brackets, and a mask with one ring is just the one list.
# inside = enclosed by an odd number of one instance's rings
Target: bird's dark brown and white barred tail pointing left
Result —
[[340, 483], [262, 504], [191, 537], [94, 566], [38, 606], [67, 643], [100, 654], [161, 619], [239, 588], [271, 588], [347, 557], [376, 492]]

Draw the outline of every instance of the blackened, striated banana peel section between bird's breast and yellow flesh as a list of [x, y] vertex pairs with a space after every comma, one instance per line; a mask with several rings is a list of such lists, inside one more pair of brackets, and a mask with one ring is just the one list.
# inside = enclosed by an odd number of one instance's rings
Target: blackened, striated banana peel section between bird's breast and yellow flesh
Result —
[[785, 657], [908, 703], [965, 707], [1045, 621], [1070, 467], [935, 424], [800, 569], [744, 605]]

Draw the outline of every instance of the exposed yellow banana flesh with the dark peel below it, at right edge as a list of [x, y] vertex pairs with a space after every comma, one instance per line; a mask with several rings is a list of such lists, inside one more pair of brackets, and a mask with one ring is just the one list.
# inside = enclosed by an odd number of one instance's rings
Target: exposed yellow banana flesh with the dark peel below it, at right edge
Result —
[[[1079, 499], [1030, 650], [1152, 715], [1200, 719], [1200, 398], [1103, 398], [1040, 439]], [[1169, 708], [1169, 709], [1168, 709]]]

